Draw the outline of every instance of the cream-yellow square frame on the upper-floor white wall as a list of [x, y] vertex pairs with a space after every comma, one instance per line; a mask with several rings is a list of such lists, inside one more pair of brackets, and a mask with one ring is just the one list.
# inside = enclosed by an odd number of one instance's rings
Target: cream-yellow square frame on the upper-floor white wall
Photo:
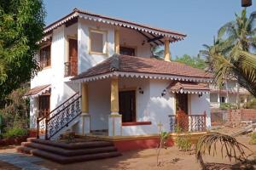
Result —
[[[102, 42], [103, 51], [102, 52], [96, 52], [96, 51], [91, 50], [91, 33], [92, 32], [102, 34], [102, 36], [103, 36], [103, 42]], [[88, 46], [89, 54], [108, 55], [108, 31], [107, 30], [95, 29], [95, 28], [89, 28], [89, 43], [88, 44], [89, 44], [89, 46]], [[105, 51], [104, 51], [104, 48], [105, 48]]]

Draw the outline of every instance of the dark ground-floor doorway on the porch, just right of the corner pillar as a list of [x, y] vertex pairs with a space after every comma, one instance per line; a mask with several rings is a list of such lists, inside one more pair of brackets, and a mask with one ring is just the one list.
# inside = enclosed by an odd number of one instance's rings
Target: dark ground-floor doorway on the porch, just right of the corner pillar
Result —
[[119, 92], [119, 114], [122, 122], [136, 122], [136, 91]]

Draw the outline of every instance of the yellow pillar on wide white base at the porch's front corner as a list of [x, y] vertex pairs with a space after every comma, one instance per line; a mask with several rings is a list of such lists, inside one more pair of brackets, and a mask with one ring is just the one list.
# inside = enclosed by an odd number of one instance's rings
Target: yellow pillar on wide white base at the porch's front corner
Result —
[[108, 116], [108, 135], [119, 136], [122, 133], [122, 116], [119, 115], [119, 79], [111, 79], [111, 114]]

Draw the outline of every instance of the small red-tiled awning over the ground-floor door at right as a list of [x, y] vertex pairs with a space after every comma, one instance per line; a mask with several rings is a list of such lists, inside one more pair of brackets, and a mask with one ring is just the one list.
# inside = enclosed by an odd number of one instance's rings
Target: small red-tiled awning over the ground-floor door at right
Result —
[[167, 90], [169, 90], [170, 92], [180, 92], [180, 90], [210, 91], [210, 88], [206, 83], [173, 81], [170, 83]]

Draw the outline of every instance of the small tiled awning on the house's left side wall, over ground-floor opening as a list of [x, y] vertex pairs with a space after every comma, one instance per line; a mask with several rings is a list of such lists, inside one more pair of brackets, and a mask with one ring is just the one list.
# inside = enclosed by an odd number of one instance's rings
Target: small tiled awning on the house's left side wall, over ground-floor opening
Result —
[[35, 88], [30, 89], [24, 97], [31, 97], [36, 98], [42, 94], [48, 94], [50, 92], [50, 84], [43, 85], [43, 86], [37, 86]]

